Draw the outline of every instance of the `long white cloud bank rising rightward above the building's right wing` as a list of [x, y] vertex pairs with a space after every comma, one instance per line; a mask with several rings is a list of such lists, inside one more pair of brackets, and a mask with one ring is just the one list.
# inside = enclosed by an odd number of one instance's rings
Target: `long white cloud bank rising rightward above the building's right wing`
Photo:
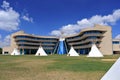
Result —
[[[71, 35], [78, 33], [81, 29], [93, 27], [94, 24], [101, 25], [114, 25], [116, 21], [120, 20], [120, 9], [113, 11], [112, 14], [108, 15], [94, 15], [91, 18], [84, 18], [76, 22], [76, 24], [68, 24], [66, 26], [62, 26], [58, 30], [51, 31], [50, 35], [60, 36], [61, 32], [63, 35]], [[59, 35], [58, 35], [59, 33]]]

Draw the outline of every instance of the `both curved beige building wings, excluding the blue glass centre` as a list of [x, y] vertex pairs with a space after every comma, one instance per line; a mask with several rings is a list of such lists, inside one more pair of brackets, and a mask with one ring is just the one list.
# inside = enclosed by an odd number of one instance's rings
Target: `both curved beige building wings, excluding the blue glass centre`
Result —
[[[67, 50], [73, 46], [78, 53], [88, 54], [91, 44], [95, 43], [103, 55], [112, 55], [115, 50], [113, 41], [111, 27], [94, 25], [94, 27], [82, 29], [78, 34], [66, 36], [65, 46]], [[47, 54], [57, 54], [59, 38], [36, 36], [19, 31], [11, 35], [11, 44], [3, 48], [3, 54], [10, 54], [14, 48], [18, 48], [21, 54], [35, 54], [40, 45]]]

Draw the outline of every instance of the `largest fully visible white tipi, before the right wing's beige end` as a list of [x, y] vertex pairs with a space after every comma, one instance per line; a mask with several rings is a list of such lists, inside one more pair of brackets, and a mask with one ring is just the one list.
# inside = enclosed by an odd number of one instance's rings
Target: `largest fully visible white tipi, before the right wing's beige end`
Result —
[[103, 57], [102, 53], [99, 51], [95, 44], [92, 45], [92, 48], [87, 55], [87, 57]]

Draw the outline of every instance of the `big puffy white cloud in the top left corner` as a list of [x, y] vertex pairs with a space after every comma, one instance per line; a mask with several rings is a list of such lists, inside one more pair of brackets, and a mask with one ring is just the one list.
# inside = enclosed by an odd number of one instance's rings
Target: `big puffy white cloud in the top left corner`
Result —
[[10, 7], [10, 4], [3, 1], [2, 9], [0, 9], [0, 29], [5, 31], [13, 31], [19, 29], [20, 14]]

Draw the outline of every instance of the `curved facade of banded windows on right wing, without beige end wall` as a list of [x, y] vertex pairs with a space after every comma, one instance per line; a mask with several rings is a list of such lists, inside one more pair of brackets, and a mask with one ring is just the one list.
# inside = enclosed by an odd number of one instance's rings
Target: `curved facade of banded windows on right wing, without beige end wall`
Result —
[[72, 45], [78, 53], [88, 54], [93, 43], [99, 47], [103, 34], [104, 31], [100, 30], [85, 31], [76, 36], [67, 37], [66, 41], [68, 45]]

